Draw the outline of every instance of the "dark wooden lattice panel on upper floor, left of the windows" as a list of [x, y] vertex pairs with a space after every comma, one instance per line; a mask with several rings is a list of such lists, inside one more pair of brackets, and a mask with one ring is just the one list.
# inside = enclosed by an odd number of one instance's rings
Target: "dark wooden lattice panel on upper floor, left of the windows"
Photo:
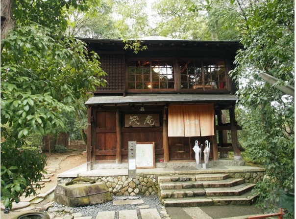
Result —
[[124, 55], [100, 55], [101, 68], [108, 75], [102, 77], [107, 81], [106, 87], [97, 86], [95, 93], [123, 93], [124, 91]]

